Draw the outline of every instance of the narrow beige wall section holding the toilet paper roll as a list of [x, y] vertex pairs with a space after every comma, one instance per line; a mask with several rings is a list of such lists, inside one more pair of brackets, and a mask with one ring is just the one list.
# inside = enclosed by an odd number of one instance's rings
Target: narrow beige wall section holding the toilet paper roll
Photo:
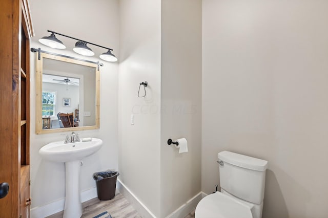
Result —
[[[201, 0], [161, 1], [161, 109], [160, 217], [166, 217], [201, 188]], [[186, 138], [189, 151], [178, 154], [169, 138]]]

